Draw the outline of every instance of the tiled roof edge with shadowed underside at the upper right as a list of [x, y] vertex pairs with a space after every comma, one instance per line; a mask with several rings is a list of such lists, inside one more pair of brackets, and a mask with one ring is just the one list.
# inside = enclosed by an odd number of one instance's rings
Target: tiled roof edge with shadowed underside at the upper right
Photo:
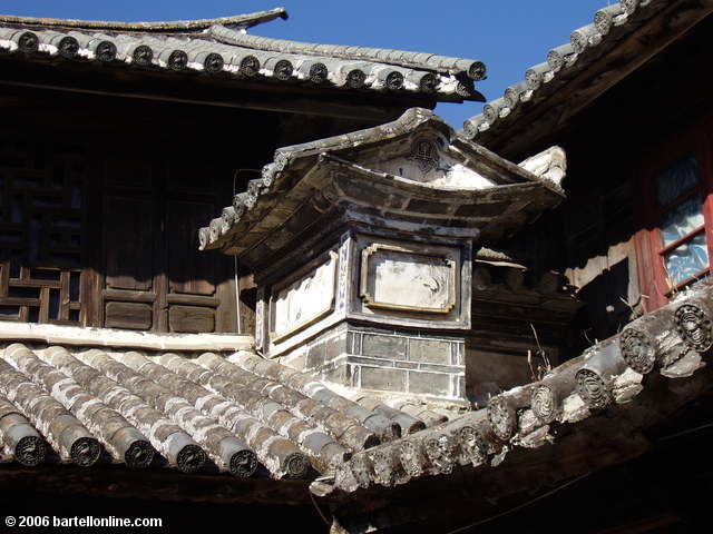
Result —
[[[691, 2], [678, 0], [623, 0], [599, 9], [593, 23], [574, 30], [569, 42], [549, 50], [546, 60], [527, 69], [525, 78], [509, 86], [502, 97], [489, 101], [480, 115], [466, 119], [460, 134], [502, 151], [500, 145], [507, 146], [514, 130], [524, 130], [524, 125], [535, 122], [540, 115], [551, 116], [553, 123], [558, 118], [563, 120], [560, 115], [566, 113], [561, 109], [550, 110], [546, 106], [560, 97], [561, 106], [572, 112], [578, 105], [577, 95], [570, 98], [565, 95], [569, 95], [569, 85], [578, 76], [585, 77], [582, 91], [592, 92], [594, 82], [602, 82], [606, 88], [606, 80], [618, 80], [628, 72], [627, 65], [638, 65], [645, 60], [645, 53], [655, 52], [712, 10], [710, 6], [688, 4]], [[654, 18], [661, 18], [664, 23], [654, 24], [647, 38], [629, 42], [629, 38]], [[590, 72], [590, 66], [614, 55], [621, 55], [621, 59], [603, 66], [600, 72]], [[551, 123], [548, 125], [551, 128]], [[548, 128], [543, 129], [546, 132]], [[491, 145], [496, 138], [497, 147]]]

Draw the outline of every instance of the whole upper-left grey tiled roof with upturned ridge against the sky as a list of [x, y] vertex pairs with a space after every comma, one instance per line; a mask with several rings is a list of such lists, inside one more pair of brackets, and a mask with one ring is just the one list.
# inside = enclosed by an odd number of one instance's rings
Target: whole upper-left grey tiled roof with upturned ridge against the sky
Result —
[[248, 36], [245, 28], [287, 18], [283, 9], [221, 19], [99, 22], [0, 16], [0, 51], [20, 58], [111, 63], [356, 91], [484, 100], [480, 61], [424, 52], [315, 44]]

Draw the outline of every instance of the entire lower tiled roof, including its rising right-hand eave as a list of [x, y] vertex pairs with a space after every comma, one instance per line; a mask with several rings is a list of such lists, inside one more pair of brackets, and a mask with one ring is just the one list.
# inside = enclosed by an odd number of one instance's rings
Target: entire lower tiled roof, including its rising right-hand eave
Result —
[[[458, 466], [495, 468], [515, 448], [556, 446], [585, 419], [596, 435], [604, 408], [604, 419], [628, 417], [634, 426], [623, 428], [631, 432], [710, 389], [709, 375], [697, 372], [713, 346], [712, 325], [713, 284], [701, 283], [538, 382], [450, 421], [422, 406], [354, 403], [246, 352], [191, 359], [16, 343], [0, 358], [3, 461], [241, 477], [262, 464], [274, 478], [325, 475], [312, 485], [318, 495], [406, 484]], [[668, 392], [666, 405], [652, 392]], [[563, 425], [570, 429], [557, 432]]]

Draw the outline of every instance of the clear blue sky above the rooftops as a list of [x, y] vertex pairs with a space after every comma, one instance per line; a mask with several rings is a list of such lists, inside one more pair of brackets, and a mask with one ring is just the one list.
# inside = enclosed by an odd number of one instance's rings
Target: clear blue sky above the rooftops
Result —
[[[251, 33], [331, 44], [418, 50], [480, 59], [488, 79], [477, 88], [488, 100], [502, 96], [525, 70], [545, 61], [547, 51], [593, 21], [607, 0], [2, 0], [0, 12], [99, 20], [177, 20], [223, 17], [283, 6], [289, 20], [274, 20]], [[437, 112], [456, 128], [482, 105], [439, 105]]]

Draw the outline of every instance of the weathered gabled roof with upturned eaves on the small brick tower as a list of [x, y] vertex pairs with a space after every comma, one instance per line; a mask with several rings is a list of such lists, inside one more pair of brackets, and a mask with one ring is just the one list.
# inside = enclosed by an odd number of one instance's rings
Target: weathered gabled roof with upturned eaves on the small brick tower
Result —
[[[390, 142], [427, 130], [449, 139], [446, 151], [494, 185], [437, 186], [358, 162], [361, 152], [375, 147], [383, 150]], [[384, 219], [416, 224], [411, 231], [418, 231], [421, 221], [426, 234], [436, 228], [441, 233], [470, 228], [486, 239], [511, 235], [564, 199], [558, 185], [458, 139], [432, 112], [410, 109], [393, 122], [279, 149], [263, 176], [252, 180], [248, 190], [235, 197], [233, 207], [225, 208], [222, 217], [199, 231], [201, 248], [251, 255], [304, 206], [314, 204], [315, 195], [324, 197], [319, 208], [323, 214], [339, 209], [379, 212]], [[398, 198], [402, 199], [401, 207], [394, 209], [393, 199]], [[387, 199], [390, 205], [383, 204]]]

